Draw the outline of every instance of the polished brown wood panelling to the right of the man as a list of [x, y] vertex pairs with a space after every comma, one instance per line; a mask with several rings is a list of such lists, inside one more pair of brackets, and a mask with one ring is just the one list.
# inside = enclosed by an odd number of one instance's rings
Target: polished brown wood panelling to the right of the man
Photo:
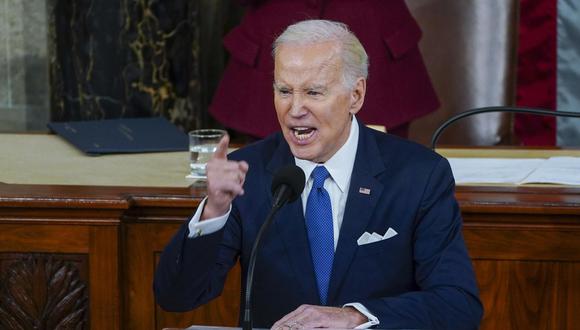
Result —
[[464, 236], [485, 307], [482, 329], [580, 322], [580, 190], [459, 187]]

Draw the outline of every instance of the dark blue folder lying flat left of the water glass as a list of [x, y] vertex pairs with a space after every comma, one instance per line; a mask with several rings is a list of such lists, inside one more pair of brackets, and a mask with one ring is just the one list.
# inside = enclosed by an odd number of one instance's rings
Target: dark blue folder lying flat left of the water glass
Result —
[[48, 127], [88, 155], [185, 151], [187, 134], [163, 117], [53, 122]]

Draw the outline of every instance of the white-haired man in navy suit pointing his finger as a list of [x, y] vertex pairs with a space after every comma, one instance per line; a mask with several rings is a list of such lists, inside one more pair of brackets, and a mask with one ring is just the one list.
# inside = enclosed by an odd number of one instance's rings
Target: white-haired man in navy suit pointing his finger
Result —
[[[228, 138], [220, 142], [207, 198], [159, 262], [158, 303], [186, 311], [215, 298], [238, 259], [245, 283], [273, 174], [295, 163], [306, 188], [263, 238], [256, 326], [477, 328], [482, 306], [449, 164], [357, 121], [368, 74], [360, 42], [342, 24], [303, 21], [278, 37], [274, 60], [281, 133], [229, 157]], [[317, 221], [328, 230], [313, 231]]]

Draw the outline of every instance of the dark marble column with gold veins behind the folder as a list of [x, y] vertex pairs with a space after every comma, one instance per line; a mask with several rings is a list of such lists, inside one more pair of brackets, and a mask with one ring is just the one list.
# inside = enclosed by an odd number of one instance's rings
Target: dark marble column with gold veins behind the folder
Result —
[[203, 125], [198, 1], [47, 1], [52, 120]]

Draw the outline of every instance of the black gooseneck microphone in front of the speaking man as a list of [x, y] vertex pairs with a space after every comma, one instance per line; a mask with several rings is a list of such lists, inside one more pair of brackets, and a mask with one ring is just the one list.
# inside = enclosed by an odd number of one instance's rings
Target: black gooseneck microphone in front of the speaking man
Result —
[[254, 279], [254, 268], [256, 266], [256, 255], [258, 254], [258, 245], [260, 244], [260, 240], [264, 235], [264, 232], [270, 227], [270, 224], [274, 220], [274, 215], [286, 202], [288, 201], [288, 197], [291, 194], [291, 189], [287, 185], [282, 185], [278, 193], [274, 196], [274, 202], [272, 203], [272, 209], [268, 216], [266, 217], [266, 221], [260, 227], [258, 231], [258, 235], [256, 236], [256, 240], [254, 241], [254, 246], [252, 246], [252, 251], [250, 252], [250, 260], [248, 262], [248, 275], [246, 277], [246, 294], [245, 294], [245, 305], [244, 305], [244, 322], [243, 322], [243, 330], [252, 330], [252, 307], [251, 307], [251, 297], [252, 297], [252, 284]]

